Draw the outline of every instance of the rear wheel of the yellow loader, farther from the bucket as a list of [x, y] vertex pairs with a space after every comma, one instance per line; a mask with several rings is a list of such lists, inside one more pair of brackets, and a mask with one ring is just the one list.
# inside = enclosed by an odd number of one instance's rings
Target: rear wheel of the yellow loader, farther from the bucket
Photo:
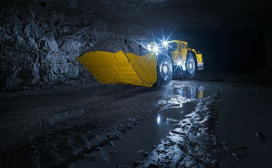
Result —
[[196, 62], [195, 55], [191, 52], [187, 53], [185, 68], [186, 68], [186, 70], [184, 72], [184, 78], [185, 79], [192, 79], [196, 73], [197, 62]]

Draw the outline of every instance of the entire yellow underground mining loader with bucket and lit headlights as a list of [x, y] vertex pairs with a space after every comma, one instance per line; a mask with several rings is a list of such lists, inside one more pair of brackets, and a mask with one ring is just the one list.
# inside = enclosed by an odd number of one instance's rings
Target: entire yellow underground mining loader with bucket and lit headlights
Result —
[[91, 51], [78, 57], [91, 74], [103, 84], [164, 86], [173, 78], [191, 79], [204, 69], [202, 53], [187, 47], [187, 42], [174, 40], [148, 45], [148, 54]]

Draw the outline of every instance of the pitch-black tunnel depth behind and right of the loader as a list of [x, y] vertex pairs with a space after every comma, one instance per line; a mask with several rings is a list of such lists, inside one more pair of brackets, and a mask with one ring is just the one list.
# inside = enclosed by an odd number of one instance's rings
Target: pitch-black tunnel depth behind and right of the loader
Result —
[[187, 41], [203, 52], [205, 71], [254, 73], [265, 66], [262, 28], [231, 29]]

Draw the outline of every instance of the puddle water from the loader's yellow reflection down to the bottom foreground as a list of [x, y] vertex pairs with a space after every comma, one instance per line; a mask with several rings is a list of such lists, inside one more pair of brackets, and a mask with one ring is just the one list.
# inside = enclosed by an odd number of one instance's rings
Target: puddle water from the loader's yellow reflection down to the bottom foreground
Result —
[[159, 144], [170, 130], [176, 128], [176, 123], [195, 109], [194, 100], [187, 99], [201, 99], [213, 94], [213, 88], [206, 87], [205, 95], [203, 90], [204, 86], [174, 88], [173, 97], [170, 100], [162, 100], [161, 103], [165, 105], [163, 110], [114, 141], [116, 153], [110, 155], [112, 163], [116, 165], [122, 162], [133, 166], [131, 160], [143, 160], [142, 152], [151, 152], [153, 145]]

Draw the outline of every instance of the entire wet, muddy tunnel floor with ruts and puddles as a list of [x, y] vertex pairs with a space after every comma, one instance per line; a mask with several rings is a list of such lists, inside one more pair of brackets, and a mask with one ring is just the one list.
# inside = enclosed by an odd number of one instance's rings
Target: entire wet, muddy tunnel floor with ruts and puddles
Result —
[[0, 167], [267, 167], [270, 95], [200, 81], [2, 90]]

